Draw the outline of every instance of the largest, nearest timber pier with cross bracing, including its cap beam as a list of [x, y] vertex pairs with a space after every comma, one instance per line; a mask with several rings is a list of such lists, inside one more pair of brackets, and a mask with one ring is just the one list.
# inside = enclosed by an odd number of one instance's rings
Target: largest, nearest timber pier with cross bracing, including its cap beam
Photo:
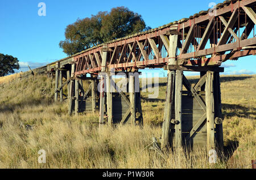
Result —
[[[193, 149], [205, 146], [209, 150], [216, 147], [221, 150], [223, 132], [219, 72], [223, 72], [224, 68], [193, 69], [169, 65], [164, 69], [171, 71], [166, 99], [171, 106], [166, 105], [164, 109], [165, 118], [167, 113], [170, 113], [170, 118], [165, 119], [167, 122], [163, 126], [162, 148], [185, 146]], [[200, 71], [201, 78], [192, 86], [183, 71]]]

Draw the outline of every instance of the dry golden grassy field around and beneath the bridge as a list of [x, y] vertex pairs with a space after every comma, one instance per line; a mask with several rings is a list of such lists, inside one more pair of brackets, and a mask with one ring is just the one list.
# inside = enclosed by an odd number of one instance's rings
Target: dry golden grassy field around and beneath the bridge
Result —
[[[221, 76], [228, 155], [214, 165], [200, 149], [163, 156], [148, 149], [152, 136], [162, 136], [164, 78], [158, 99], [142, 94], [143, 128], [98, 128], [98, 114], [70, 117], [67, 101], [52, 101], [55, 85], [46, 76], [0, 82], [0, 168], [251, 168], [256, 158], [256, 75]], [[46, 164], [38, 163], [40, 149]]]

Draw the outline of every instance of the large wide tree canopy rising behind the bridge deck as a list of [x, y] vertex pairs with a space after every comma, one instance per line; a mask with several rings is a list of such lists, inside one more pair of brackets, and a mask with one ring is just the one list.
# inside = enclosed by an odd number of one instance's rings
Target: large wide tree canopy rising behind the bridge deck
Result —
[[103, 42], [150, 29], [141, 15], [127, 7], [115, 7], [110, 12], [100, 11], [91, 18], [77, 19], [65, 29], [65, 40], [59, 46], [73, 55]]

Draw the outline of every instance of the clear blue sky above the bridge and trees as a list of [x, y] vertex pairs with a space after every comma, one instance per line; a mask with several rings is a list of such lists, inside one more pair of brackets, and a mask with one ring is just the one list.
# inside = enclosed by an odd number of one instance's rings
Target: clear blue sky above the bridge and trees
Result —
[[[38, 4], [46, 4], [46, 16], [39, 16]], [[117, 6], [128, 7], [142, 15], [151, 28], [188, 18], [201, 10], [208, 10], [210, 2], [220, 3], [223, 0], [189, 1], [87, 1], [87, 0], [9, 0], [0, 1], [0, 53], [17, 57], [22, 71], [27, 65], [32, 68], [46, 65], [49, 62], [67, 57], [59, 48], [64, 40], [65, 27], [77, 18], [90, 17], [98, 11], [110, 11]], [[224, 74], [255, 74], [255, 57], [244, 57], [238, 61], [227, 61], [222, 66]], [[160, 74], [162, 71], [159, 71]], [[163, 72], [162, 72], [163, 74]], [[187, 75], [193, 75], [187, 73]]]

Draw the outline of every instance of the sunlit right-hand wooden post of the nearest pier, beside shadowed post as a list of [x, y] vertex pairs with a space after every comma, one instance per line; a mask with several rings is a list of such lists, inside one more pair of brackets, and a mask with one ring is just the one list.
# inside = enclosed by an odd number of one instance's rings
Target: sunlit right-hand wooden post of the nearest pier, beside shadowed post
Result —
[[205, 83], [205, 104], [207, 107], [207, 147], [215, 149], [214, 145], [214, 96], [213, 96], [213, 72], [207, 71]]

